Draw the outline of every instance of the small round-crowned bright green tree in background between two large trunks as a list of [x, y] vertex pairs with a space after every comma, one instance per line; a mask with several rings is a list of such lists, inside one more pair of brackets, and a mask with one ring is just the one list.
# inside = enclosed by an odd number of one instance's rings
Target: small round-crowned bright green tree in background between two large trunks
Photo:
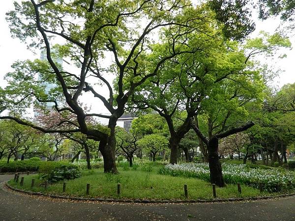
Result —
[[138, 140], [138, 145], [142, 147], [147, 153], [152, 154], [152, 160], [156, 161], [156, 154], [168, 148], [169, 141], [167, 138], [151, 134]]

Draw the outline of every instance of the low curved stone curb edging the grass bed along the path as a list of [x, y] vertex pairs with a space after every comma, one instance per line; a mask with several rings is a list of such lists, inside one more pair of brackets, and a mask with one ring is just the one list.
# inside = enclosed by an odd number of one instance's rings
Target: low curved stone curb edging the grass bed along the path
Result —
[[11, 187], [7, 182], [4, 182], [6, 187], [10, 190], [20, 192], [20, 193], [27, 193], [29, 195], [41, 195], [47, 196], [51, 198], [58, 198], [58, 199], [70, 199], [70, 200], [80, 200], [80, 201], [96, 201], [96, 202], [120, 202], [120, 203], [212, 203], [212, 202], [233, 202], [233, 201], [247, 201], [247, 200], [261, 200], [261, 199], [273, 199], [273, 198], [280, 198], [280, 197], [287, 197], [293, 196], [295, 193], [286, 193], [280, 195], [271, 195], [271, 196], [253, 196], [253, 197], [245, 197], [245, 198], [214, 198], [214, 199], [185, 199], [185, 200], [149, 200], [149, 199], [111, 199], [111, 198], [86, 198], [86, 197], [73, 197], [69, 195], [55, 195], [55, 194], [47, 194], [42, 192], [32, 192], [32, 191], [25, 191], [21, 189], [17, 189]]

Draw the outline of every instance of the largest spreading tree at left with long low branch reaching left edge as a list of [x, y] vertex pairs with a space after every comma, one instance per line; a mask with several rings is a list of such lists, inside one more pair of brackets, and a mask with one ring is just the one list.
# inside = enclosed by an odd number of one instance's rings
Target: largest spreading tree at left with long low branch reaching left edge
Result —
[[[104, 171], [116, 173], [115, 127], [129, 96], [149, 77], [157, 75], [165, 62], [176, 55], [195, 52], [194, 47], [188, 46], [186, 35], [206, 32], [206, 7], [193, 7], [186, 0], [28, 0], [14, 4], [15, 10], [7, 13], [12, 36], [30, 48], [43, 48], [47, 61], [21, 61], [13, 65], [15, 71], [8, 76], [5, 104], [1, 108], [17, 106], [20, 110], [34, 100], [38, 105], [53, 102], [56, 111], [74, 113], [78, 124], [67, 130], [47, 130], [25, 119], [0, 118], [45, 133], [81, 132], [100, 141]], [[62, 39], [64, 44], [54, 46], [55, 38]], [[154, 56], [156, 47], [165, 50]], [[148, 56], [153, 59], [148, 60]], [[61, 57], [68, 57], [76, 71], [64, 70], [58, 62]], [[105, 61], [110, 57], [114, 62], [107, 65]], [[38, 81], [36, 75], [41, 77]], [[107, 75], [117, 77], [114, 85]], [[127, 82], [123, 83], [123, 78]], [[46, 94], [44, 82], [57, 86]], [[95, 84], [104, 85], [107, 95]], [[101, 102], [110, 114], [84, 111], [79, 103], [83, 92], [91, 93], [97, 99], [95, 102]], [[108, 130], [89, 127], [87, 116], [107, 118]]]

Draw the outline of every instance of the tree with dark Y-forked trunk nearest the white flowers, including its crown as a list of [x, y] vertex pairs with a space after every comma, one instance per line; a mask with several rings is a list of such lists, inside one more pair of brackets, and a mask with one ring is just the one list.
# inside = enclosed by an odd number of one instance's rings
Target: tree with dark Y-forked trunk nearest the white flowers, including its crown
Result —
[[[211, 182], [218, 186], [224, 186], [218, 140], [253, 126], [254, 123], [249, 121], [249, 113], [257, 109], [264, 98], [262, 68], [251, 58], [262, 53], [272, 55], [279, 47], [291, 45], [288, 39], [279, 34], [268, 35], [263, 32], [262, 35], [248, 40], [244, 50], [235, 49], [236, 46], [232, 45], [231, 50], [222, 54], [222, 60], [217, 63], [219, 66], [207, 65], [207, 79], [211, 84], [207, 86], [199, 113], [199, 116], [205, 117], [207, 128], [205, 131], [200, 129], [197, 115], [195, 122], [192, 121], [192, 127], [207, 145]], [[205, 76], [201, 76], [203, 82]]]

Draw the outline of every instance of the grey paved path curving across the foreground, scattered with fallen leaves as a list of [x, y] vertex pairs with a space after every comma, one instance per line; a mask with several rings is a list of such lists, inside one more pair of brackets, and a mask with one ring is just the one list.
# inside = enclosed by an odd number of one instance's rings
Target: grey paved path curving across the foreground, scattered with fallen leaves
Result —
[[[0, 175], [0, 182], [13, 175]], [[0, 189], [0, 221], [295, 221], [295, 197], [206, 204], [118, 204], [37, 198]]]

